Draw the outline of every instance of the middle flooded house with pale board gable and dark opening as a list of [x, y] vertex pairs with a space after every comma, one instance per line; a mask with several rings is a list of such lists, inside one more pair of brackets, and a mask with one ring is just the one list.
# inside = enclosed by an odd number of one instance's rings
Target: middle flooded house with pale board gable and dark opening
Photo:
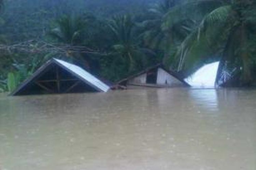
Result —
[[138, 74], [118, 82], [120, 87], [190, 87], [181, 76], [170, 70], [166, 70], [161, 64], [148, 68]]

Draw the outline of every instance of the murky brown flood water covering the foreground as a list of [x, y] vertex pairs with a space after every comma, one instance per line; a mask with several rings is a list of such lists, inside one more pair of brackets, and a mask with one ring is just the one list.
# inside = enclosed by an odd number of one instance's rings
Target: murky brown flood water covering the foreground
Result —
[[255, 170], [256, 90], [0, 94], [1, 170]]

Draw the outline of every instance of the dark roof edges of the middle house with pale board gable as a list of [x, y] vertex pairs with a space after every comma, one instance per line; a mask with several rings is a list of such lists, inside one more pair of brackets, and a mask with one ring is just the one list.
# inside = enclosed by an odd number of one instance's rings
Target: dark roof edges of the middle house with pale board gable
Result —
[[155, 66], [146, 68], [145, 70], [143, 70], [143, 71], [141, 71], [141, 72], [139, 72], [139, 73], [137, 73], [137, 74], [134, 74], [134, 75], [132, 75], [132, 76], [126, 78], [126, 79], [120, 80], [117, 84], [121, 84], [121, 83], [126, 82], [126, 81], [128, 81], [128, 80], [131, 80], [131, 79], [133, 79], [133, 78], [139, 77], [140, 75], [145, 74], [145, 73], [147, 73], [147, 72], [149, 72], [149, 71], [151, 71], [151, 70], [153, 70], [153, 69], [157, 69], [157, 68], [161, 68], [161, 69], [165, 70], [167, 73], [169, 73], [169, 74], [172, 75], [174, 78], [176, 78], [177, 80], [179, 80], [179, 81], [181, 81], [182, 83], [184, 83], [186, 86], [190, 86], [186, 81], [184, 81], [184, 79], [182, 78], [182, 76], [181, 76], [179, 73], [177, 73], [177, 72], [175, 72], [175, 71], [173, 71], [173, 70], [167, 70], [167, 69], [165, 69], [165, 67], [163, 67], [162, 64], [157, 64], [157, 65], [155, 65]]

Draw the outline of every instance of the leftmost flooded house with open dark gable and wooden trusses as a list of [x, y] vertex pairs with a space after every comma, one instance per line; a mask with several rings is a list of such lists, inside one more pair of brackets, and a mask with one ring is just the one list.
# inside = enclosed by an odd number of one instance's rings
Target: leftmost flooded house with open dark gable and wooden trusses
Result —
[[74, 64], [53, 58], [11, 95], [107, 92], [110, 86]]

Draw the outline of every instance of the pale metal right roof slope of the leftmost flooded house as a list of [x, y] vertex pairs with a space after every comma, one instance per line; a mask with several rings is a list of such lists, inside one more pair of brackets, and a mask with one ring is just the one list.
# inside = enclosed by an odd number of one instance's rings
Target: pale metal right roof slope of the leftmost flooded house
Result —
[[90, 74], [89, 72], [82, 69], [81, 67], [76, 66], [74, 64], [70, 64], [70, 63], [62, 61], [62, 60], [58, 60], [56, 58], [54, 58], [54, 60], [57, 63], [61, 64], [63, 67], [66, 67], [73, 73], [77, 74], [80, 78], [84, 79], [86, 82], [90, 83], [93, 86], [96, 86], [101, 91], [107, 92], [110, 89], [110, 87], [108, 85], [106, 85], [105, 83], [103, 83], [102, 81], [100, 81], [99, 79], [94, 77], [94, 75]]

